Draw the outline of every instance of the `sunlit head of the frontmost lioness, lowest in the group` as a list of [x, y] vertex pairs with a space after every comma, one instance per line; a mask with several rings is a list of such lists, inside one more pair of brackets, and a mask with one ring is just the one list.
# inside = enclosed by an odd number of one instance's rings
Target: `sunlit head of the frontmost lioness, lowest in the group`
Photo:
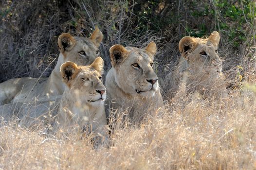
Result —
[[103, 60], [98, 57], [90, 66], [77, 66], [73, 62], [61, 65], [60, 73], [68, 86], [75, 104], [104, 104], [106, 88], [102, 83]]

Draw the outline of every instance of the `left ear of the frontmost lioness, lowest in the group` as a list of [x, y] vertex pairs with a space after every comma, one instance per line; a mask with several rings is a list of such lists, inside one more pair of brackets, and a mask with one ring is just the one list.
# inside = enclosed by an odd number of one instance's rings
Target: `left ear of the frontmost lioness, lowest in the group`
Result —
[[60, 74], [67, 85], [70, 86], [70, 80], [72, 80], [72, 76], [77, 69], [77, 65], [71, 61], [65, 62], [60, 66]]

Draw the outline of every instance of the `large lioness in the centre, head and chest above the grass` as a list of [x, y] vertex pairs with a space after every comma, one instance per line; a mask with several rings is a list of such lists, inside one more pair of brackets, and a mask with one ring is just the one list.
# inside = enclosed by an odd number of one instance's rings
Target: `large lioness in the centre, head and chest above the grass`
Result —
[[144, 49], [122, 45], [110, 48], [112, 68], [106, 76], [108, 117], [112, 117], [116, 110], [128, 111], [130, 121], [138, 123], [146, 114], [155, 113], [163, 106], [158, 77], [154, 72], [156, 50], [153, 41]]

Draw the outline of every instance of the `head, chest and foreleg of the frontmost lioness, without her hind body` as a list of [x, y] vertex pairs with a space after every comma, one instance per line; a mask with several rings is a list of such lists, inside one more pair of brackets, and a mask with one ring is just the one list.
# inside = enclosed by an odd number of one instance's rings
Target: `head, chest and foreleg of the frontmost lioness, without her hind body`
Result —
[[102, 83], [103, 59], [98, 57], [90, 66], [73, 62], [61, 65], [60, 73], [67, 85], [55, 121], [55, 128], [69, 131], [75, 125], [89, 129], [97, 137], [94, 144], [107, 143], [107, 120], [104, 109], [106, 88]]

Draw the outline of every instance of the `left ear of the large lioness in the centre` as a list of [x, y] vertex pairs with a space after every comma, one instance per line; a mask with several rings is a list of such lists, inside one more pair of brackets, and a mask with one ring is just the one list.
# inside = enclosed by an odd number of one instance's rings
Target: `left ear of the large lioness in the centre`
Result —
[[113, 67], [121, 64], [127, 56], [128, 51], [124, 46], [116, 44], [110, 48], [110, 61]]

